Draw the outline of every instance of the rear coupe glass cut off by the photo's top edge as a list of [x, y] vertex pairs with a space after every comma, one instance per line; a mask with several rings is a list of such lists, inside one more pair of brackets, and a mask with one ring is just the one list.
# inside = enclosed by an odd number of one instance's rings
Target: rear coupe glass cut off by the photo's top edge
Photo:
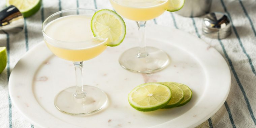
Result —
[[[156, 72], [169, 63], [168, 55], [155, 47], [146, 46], [146, 21], [161, 15], [168, 0], [110, 0], [114, 9], [123, 17], [136, 21], [139, 31], [139, 47], [126, 50], [119, 58], [120, 65], [140, 73]], [[160, 44], [159, 44], [160, 45]]]

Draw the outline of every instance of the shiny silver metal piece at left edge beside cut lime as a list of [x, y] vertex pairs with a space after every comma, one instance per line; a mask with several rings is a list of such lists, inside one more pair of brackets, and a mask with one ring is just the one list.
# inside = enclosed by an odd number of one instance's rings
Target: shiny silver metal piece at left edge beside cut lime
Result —
[[15, 6], [0, 11], [0, 33], [17, 33], [24, 27], [22, 13]]

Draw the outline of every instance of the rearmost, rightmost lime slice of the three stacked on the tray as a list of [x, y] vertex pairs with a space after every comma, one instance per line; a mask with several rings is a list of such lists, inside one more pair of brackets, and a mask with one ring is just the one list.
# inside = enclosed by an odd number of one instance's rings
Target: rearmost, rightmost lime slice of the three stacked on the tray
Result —
[[176, 83], [176, 82], [167, 82], [167, 83], [179, 86], [184, 92], [184, 99], [181, 101], [181, 103], [177, 107], [183, 106], [191, 100], [192, 91], [188, 86], [184, 84]]

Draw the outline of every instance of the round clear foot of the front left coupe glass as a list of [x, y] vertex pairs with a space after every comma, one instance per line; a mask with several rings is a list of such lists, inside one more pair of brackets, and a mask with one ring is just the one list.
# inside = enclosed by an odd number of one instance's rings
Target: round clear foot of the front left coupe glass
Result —
[[61, 91], [54, 99], [55, 107], [69, 115], [86, 115], [103, 108], [107, 95], [97, 87], [84, 85], [86, 97], [74, 98], [75, 86]]

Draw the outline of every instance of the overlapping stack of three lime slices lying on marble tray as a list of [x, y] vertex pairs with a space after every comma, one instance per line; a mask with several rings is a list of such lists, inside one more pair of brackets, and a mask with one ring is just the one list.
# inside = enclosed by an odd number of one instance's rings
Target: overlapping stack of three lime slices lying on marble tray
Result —
[[191, 89], [184, 84], [175, 82], [141, 84], [128, 95], [130, 105], [139, 111], [183, 106], [191, 98]]

